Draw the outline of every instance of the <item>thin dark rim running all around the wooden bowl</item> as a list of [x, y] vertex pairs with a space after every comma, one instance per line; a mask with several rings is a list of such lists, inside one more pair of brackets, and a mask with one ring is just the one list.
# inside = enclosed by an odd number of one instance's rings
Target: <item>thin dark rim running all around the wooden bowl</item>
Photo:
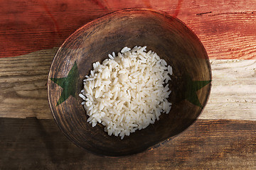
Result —
[[58, 125], [58, 128], [63, 132], [63, 134], [65, 135], [65, 137], [68, 138], [68, 140], [70, 140], [71, 142], [73, 142], [76, 146], [84, 149], [86, 152], [89, 152], [91, 154], [95, 154], [95, 155], [99, 155], [99, 156], [102, 156], [102, 157], [129, 157], [131, 155], [134, 155], [134, 154], [139, 154], [139, 153], [143, 153], [143, 152], [146, 152], [146, 151], [151, 151], [152, 149], [156, 149], [158, 147], [160, 147], [161, 145], [164, 145], [166, 142], [169, 142], [169, 140], [173, 139], [174, 137], [177, 137], [178, 135], [181, 135], [183, 132], [185, 132], [186, 130], [188, 130], [188, 128], [190, 128], [195, 122], [196, 120], [198, 120], [198, 117], [201, 115], [201, 113], [203, 112], [206, 104], [208, 103], [208, 100], [209, 100], [209, 97], [210, 97], [210, 91], [211, 91], [211, 81], [210, 83], [208, 84], [208, 93], [206, 94], [206, 101], [205, 103], [202, 104], [203, 108], [201, 108], [201, 112], [198, 114], [197, 118], [195, 118], [195, 120], [193, 120], [191, 122], [191, 125], [188, 125], [187, 128], [185, 128], [184, 130], [182, 130], [181, 132], [178, 132], [176, 135], [173, 135], [171, 137], [168, 137], [166, 140], [162, 140], [160, 142], [157, 142], [156, 144], [152, 145], [151, 147], [147, 147], [146, 149], [142, 150], [142, 151], [139, 151], [139, 152], [135, 152], [135, 153], [132, 153], [132, 154], [122, 154], [120, 156], [114, 156], [114, 155], [106, 155], [106, 154], [99, 154], [99, 153], [95, 153], [95, 152], [92, 152], [88, 149], [86, 149], [85, 147], [82, 147], [78, 142], [76, 142], [75, 140], [71, 139], [71, 137], [68, 135], [67, 132], [65, 132], [65, 129], [61, 128], [59, 122], [58, 122], [58, 118], [56, 118], [55, 116], [55, 113], [53, 113], [53, 104], [51, 102], [51, 98], [50, 98], [50, 86], [49, 86], [49, 81], [50, 81], [50, 74], [52, 74], [52, 70], [53, 70], [53, 64], [55, 63], [55, 60], [56, 60], [56, 57], [58, 56], [60, 50], [62, 49], [63, 45], [65, 45], [66, 42], [68, 42], [68, 40], [73, 37], [73, 35], [75, 35], [76, 33], [78, 33], [80, 30], [84, 29], [84, 28], [90, 28], [90, 26], [92, 26], [95, 22], [97, 21], [102, 21], [102, 20], [105, 20], [105, 18], [107, 17], [110, 17], [111, 15], [117, 15], [118, 13], [123, 13], [123, 12], [129, 12], [129, 11], [150, 11], [150, 12], [153, 12], [153, 13], [157, 13], [161, 16], [164, 16], [165, 18], [171, 18], [171, 19], [175, 19], [176, 21], [178, 21], [179, 23], [181, 23], [183, 25], [184, 28], [187, 28], [191, 34], [193, 34], [194, 38], [197, 39], [197, 42], [199, 43], [199, 45], [201, 45], [202, 47], [202, 50], [203, 50], [203, 53], [205, 54], [205, 58], [206, 58], [206, 64], [207, 64], [207, 67], [208, 67], [208, 70], [209, 70], [209, 76], [210, 76], [210, 80], [212, 80], [212, 69], [210, 67], [210, 60], [209, 60], [209, 57], [208, 57], [208, 53], [206, 52], [206, 48], [203, 46], [203, 43], [201, 42], [201, 40], [198, 38], [198, 36], [196, 35], [196, 33], [193, 32], [193, 30], [191, 28], [189, 28], [185, 23], [183, 23], [183, 21], [181, 21], [180, 19], [178, 19], [176, 16], [171, 16], [170, 13], [167, 13], [165, 11], [161, 11], [161, 10], [156, 10], [156, 9], [152, 9], [152, 8], [123, 8], [121, 10], [117, 10], [117, 11], [112, 11], [110, 13], [106, 13], [105, 15], [103, 16], [100, 16], [98, 18], [95, 18], [94, 20], [88, 22], [88, 23], [85, 23], [85, 25], [81, 26], [80, 28], [78, 28], [77, 30], [75, 30], [74, 33], [72, 33], [71, 35], [68, 36], [68, 38], [65, 39], [65, 41], [62, 43], [62, 45], [60, 45], [60, 47], [58, 48], [58, 51], [55, 53], [54, 57], [53, 57], [53, 61], [52, 63], [50, 64], [50, 69], [49, 69], [49, 72], [48, 72], [48, 80], [47, 80], [47, 94], [48, 94], [48, 104], [50, 106], [50, 112], [52, 113], [53, 115], [53, 119], [55, 120], [55, 123]]

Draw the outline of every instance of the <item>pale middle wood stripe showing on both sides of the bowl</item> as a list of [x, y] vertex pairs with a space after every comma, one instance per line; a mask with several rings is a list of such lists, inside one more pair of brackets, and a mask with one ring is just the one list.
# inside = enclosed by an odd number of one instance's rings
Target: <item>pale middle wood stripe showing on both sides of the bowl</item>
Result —
[[[0, 59], [0, 117], [49, 118], [46, 82], [58, 48]], [[201, 119], [256, 120], [256, 60], [210, 60], [213, 86]]]

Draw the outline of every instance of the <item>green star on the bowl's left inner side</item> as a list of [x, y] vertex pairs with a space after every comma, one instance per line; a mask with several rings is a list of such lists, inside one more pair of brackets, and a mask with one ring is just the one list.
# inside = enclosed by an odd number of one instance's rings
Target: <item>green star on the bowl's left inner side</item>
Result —
[[63, 103], [63, 101], [65, 101], [70, 95], [75, 97], [75, 91], [77, 88], [76, 83], [78, 81], [78, 65], [75, 62], [72, 69], [70, 69], [70, 72], [68, 73], [68, 77], [50, 78], [50, 80], [63, 88], [63, 91], [56, 105], [58, 106], [59, 104]]

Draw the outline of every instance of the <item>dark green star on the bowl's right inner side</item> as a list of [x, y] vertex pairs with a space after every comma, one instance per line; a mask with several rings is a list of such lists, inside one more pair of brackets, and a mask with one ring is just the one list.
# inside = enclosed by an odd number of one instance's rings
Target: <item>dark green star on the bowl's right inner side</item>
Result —
[[196, 91], [202, 89], [204, 86], [210, 83], [211, 80], [208, 81], [193, 81], [190, 76], [186, 76], [186, 91], [185, 91], [185, 99], [192, 103], [193, 105], [199, 106], [203, 108], [201, 105]]

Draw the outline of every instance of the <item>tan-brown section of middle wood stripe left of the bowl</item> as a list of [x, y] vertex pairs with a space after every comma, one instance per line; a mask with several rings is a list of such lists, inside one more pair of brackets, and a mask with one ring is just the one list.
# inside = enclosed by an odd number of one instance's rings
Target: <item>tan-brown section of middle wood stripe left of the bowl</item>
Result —
[[57, 50], [0, 59], [0, 117], [53, 118], [46, 85]]

